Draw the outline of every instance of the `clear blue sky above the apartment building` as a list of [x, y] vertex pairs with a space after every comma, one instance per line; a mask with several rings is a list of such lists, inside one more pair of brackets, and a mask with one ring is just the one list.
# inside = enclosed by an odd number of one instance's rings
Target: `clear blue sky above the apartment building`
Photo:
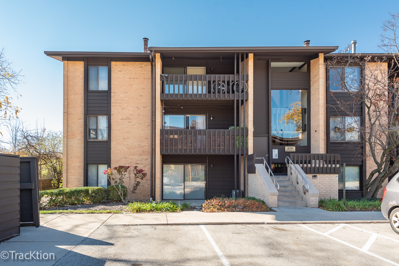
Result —
[[395, 1], [4, 1], [0, 47], [15, 69], [20, 118], [62, 130], [62, 62], [43, 51], [142, 51], [149, 46], [346, 47], [376, 44]]

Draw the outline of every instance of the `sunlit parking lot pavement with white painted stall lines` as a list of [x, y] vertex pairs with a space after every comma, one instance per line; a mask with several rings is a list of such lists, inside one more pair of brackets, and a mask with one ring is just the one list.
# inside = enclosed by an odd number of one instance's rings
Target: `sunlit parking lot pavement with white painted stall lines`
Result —
[[54, 265], [384, 266], [398, 248], [386, 223], [101, 225]]

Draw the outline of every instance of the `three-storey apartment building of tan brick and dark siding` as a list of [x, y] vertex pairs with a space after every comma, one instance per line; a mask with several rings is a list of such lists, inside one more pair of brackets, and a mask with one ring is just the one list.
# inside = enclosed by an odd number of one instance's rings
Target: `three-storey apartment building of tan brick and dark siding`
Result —
[[365, 121], [364, 108], [358, 118], [337, 111], [348, 94], [325, 65], [338, 47], [147, 44], [45, 52], [63, 62], [64, 187], [106, 187], [105, 169], [137, 165], [148, 175], [136, 199], [247, 196], [255, 164], [290, 175], [288, 156], [319, 197], [342, 197], [344, 163], [347, 197], [363, 196], [373, 165], [359, 135], [341, 131]]

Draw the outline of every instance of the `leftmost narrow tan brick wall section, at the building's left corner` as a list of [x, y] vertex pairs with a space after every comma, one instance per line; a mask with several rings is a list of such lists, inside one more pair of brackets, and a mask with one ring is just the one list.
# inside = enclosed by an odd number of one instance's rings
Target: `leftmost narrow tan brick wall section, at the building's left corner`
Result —
[[63, 61], [63, 187], [83, 187], [84, 64]]

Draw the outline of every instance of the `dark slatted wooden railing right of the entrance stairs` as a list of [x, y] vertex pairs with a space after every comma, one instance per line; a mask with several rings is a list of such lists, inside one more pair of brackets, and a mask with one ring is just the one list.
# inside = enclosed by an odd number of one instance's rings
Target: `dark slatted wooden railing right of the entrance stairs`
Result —
[[340, 154], [290, 154], [305, 173], [341, 173]]

